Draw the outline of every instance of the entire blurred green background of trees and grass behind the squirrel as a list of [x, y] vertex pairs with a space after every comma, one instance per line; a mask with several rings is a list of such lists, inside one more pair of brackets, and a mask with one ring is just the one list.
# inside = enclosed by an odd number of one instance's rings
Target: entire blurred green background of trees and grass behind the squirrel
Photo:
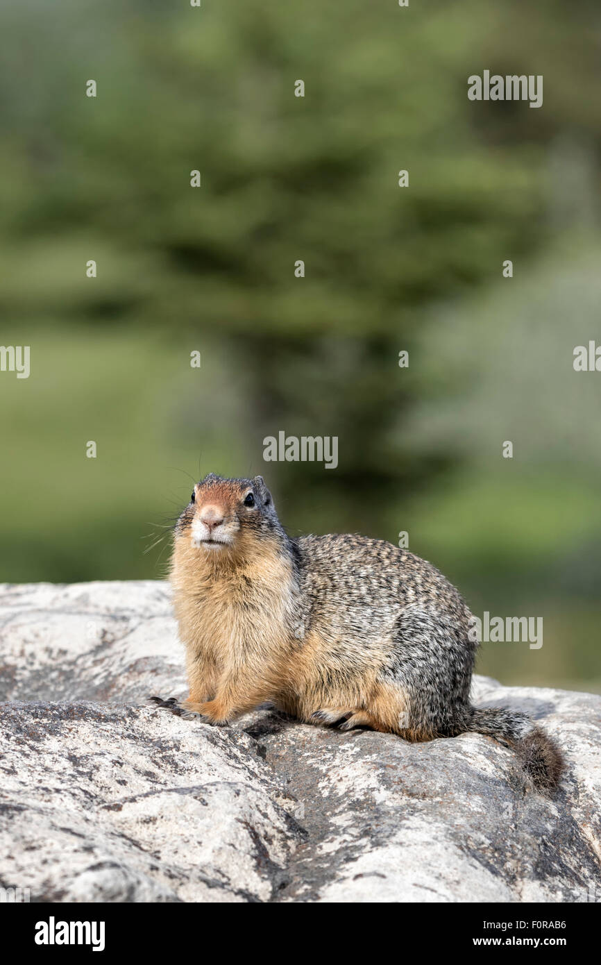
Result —
[[[162, 576], [193, 481], [260, 472], [290, 534], [407, 531], [476, 614], [543, 617], [480, 672], [601, 691], [596, 0], [0, 27], [1, 341], [31, 346], [0, 372], [0, 579]], [[483, 69], [543, 74], [542, 108], [469, 101]], [[337, 435], [338, 469], [264, 463], [280, 429]]]

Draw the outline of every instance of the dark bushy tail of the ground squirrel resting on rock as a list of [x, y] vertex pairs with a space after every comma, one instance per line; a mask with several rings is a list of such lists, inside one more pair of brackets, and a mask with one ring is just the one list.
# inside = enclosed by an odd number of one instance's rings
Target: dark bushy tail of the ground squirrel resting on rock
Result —
[[471, 707], [466, 731], [505, 740], [515, 750], [528, 784], [548, 793], [558, 786], [563, 771], [560, 748], [526, 714], [506, 707]]

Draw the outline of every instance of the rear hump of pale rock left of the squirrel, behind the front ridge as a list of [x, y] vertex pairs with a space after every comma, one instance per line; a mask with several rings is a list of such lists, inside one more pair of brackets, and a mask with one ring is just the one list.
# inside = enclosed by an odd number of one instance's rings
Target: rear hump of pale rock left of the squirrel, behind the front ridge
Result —
[[0, 584], [0, 700], [140, 703], [185, 690], [169, 587]]

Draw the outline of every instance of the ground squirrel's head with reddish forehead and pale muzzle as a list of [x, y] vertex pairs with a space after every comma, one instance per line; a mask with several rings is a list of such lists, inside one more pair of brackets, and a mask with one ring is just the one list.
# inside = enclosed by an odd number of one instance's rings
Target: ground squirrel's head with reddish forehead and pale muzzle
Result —
[[271, 493], [261, 476], [227, 480], [210, 473], [196, 483], [178, 519], [177, 536], [206, 555], [241, 549], [254, 538], [282, 532]]

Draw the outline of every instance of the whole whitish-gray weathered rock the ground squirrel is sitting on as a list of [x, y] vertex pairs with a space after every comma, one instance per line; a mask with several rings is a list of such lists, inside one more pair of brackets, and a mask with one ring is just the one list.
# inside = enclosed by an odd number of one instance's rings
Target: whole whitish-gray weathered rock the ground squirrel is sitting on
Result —
[[557, 737], [545, 799], [479, 734], [144, 705], [185, 693], [163, 583], [3, 586], [0, 627], [0, 884], [32, 900], [601, 900], [600, 697], [475, 678]]

